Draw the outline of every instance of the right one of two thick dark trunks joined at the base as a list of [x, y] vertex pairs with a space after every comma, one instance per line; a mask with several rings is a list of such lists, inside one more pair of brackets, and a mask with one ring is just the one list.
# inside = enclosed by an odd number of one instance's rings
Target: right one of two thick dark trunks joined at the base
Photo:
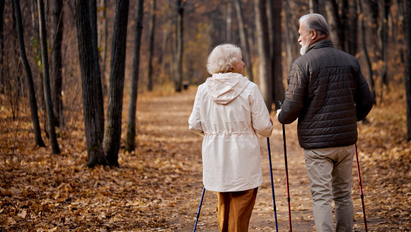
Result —
[[108, 86], [107, 119], [105, 121], [103, 139], [103, 148], [107, 155], [108, 163], [116, 167], [119, 166], [128, 10], [128, 0], [116, 1], [112, 36], [110, 85]]

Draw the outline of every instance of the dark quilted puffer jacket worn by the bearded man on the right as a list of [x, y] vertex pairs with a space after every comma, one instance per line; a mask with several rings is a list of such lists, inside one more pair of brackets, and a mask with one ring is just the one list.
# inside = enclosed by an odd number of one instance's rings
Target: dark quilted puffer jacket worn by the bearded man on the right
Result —
[[358, 60], [321, 40], [292, 63], [278, 120], [290, 124], [298, 118], [302, 148], [349, 146], [373, 102]]

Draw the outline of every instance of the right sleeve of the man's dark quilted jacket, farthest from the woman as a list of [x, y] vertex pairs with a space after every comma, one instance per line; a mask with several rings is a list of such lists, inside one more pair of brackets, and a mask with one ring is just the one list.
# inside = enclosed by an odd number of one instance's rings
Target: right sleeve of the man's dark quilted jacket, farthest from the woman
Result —
[[371, 108], [373, 108], [375, 98], [373, 93], [369, 89], [369, 85], [366, 82], [364, 76], [362, 76], [360, 69], [358, 69], [358, 81], [355, 101], [357, 121], [361, 121], [366, 117], [366, 115], [369, 114]]

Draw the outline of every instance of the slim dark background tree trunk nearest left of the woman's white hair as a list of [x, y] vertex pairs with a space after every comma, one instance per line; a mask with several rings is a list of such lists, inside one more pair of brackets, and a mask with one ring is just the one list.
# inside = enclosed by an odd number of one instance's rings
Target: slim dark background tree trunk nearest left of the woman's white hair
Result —
[[182, 5], [182, 0], [177, 0], [177, 25], [176, 25], [176, 52], [175, 52], [175, 74], [174, 74], [174, 85], [175, 91], [182, 91], [182, 82], [183, 82], [183, 14], [184, 14], [184, 5]]

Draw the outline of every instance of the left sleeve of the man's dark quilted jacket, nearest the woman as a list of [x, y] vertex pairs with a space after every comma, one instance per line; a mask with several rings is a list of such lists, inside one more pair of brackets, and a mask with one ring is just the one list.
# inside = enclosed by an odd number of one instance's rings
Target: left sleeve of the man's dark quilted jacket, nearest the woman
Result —
[[304, 108], [306, 97], [307, 78], [297, 63], [292, 63], [290, 74], [287, 78], [287, 90], [285, 99], [278, 115], [278, 121], [282, 124], [290, 124], [295, 121]]

